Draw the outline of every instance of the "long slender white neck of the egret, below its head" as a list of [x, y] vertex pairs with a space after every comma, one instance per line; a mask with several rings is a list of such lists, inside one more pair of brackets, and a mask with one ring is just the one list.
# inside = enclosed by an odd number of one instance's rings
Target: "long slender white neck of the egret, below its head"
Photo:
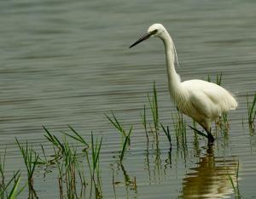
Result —
[[177, 72], [175, 71], [174, 62], [175, 62], [175, 47], [172, 42], [172, 37], [166, 31], [163, 37], [160, 37], [165, 44], [166, 48], [166, 66], [167, 66], [167, 75], [168, 75], [168, 85], [170, 89], [170, 94], [172, 98], [175, 98], [177, 93], [180, 91], [181, 79]]

